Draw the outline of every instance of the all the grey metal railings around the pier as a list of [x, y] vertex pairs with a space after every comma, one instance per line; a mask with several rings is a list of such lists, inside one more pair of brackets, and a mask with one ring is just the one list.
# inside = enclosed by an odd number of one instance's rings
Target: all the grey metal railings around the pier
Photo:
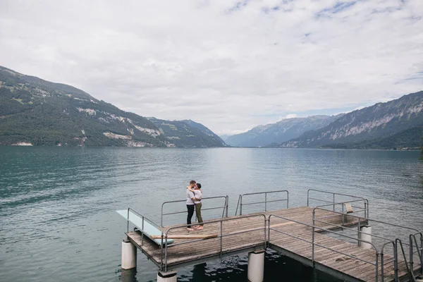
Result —
[[[309, 192], [313, 191], [313, 192], [322, 192], [322, 193], [328, 193], [333, 195], [333, 201], [326, 201], [326, 200], [322, 200], [322, 199], [317, 199], [314, 197], [309, 197]], [[267, 194], [270, 193], [277, 193], [277, 192], [286, 192], [286, 199], [281, 199], [281, 200], [271, 200], [268, 201], [267, 200]], [[250, 196], [250, 195], [264, 195], [264, 202], [247, 202], [247, 203], [243, 203], [243, 197], [245, 196]], [[335, 202], [336, 200], [336, 195], [342, 196], [342, 197], [351, 197], [352, 200], [350, 201], [342, 201], [342, 202]], [[264, 227], [260, 227], [260, 228], [255, 228], [255, 229], [249, 229], [247, 231], [238, 231], [235, 233], [228, 233], [228, 234], [224, 234], [223, 232], [223, 222], [225, 221], [231, 221], [231, 220], [235, 220], [238, 219], [237, 218], [224, 218], [225, 216], [228, 216], [228, 196], [219, 196], [219, 197], [207, 197], [207, 198], [203, 198], [203, 200], [212, 200], [212, 199], [219, 199], [219, 198], [224, 198], [225, 202], [223, 204], [223, 206], [221, 207], [210, 207], [207, 209], [223, 209], [222, 211], [222, 218], [221, 219], [214, 219], [212, 221], [207, 221], [204, 222], [203, 224], [211, 224], [211, 223], [220, 223], [220, 227], [219, 227], [219, 235], [217, 235], [216, 238], [219, 238], [220, 241], [220, 256], [222, 257], [223, 255], [223, 238], [227, 237], [227, 236], [231, 236], [231, 235], [238, 235], [241, 233], [247, 233], [247, 232], [252, 232], [252, 231], [264, 231], [264, 240], [263, 240], [263, 244], [264, 244], [264, 248], [266, 249], [266, 245], [268, 243], [270, 243], [270, 231], [275, 231], [277, 233], [282, 233], [285, 235], [288, 235], [292, 238], [296, 238], [298, 240], [302, 240], [305, 241], [307, 243], [312, 244], [312, 262], [314, 263], [314, 247], [322, 247], [325, 248], [327, 250], [331, 250], [333, 252], [339, 253], [341, 255], [345, 255], [348, 257], [353, 257], [354, 259], [360, 260], [362, 262], [365, 262], [367, 264], [372, 264], [375, 266], [375, 270], [376, 270], [376, 281], [379, 281], [379, 271], [378, 271], [378, 267], [379, 267], [379, 257], [380, 257], [380, 262], [381, 262], [381, 281], [384, 281], [384, 265], [393, 262], [394, 264], [394, 275], [396, 277], [396, 281], [398, 281], [398, 247], [400, 247], [400, 255], [403, 255], [404, 257], [404, 261], [407, 267], [407, 272], [410, 276], [410, 280], [414, 277], [413, 275], [413, 265], [414, 265], [414, 258], [413, 256], [417, 253], [417, 256], [419, 257], [419, 261], [420, 261], [420, 274], [423, 274], [423, 233], [415, 228], [410, 228], [407, 226], [400, 226], [398, 224], [394, 224], [394, 223], [388, 223], [388, 222], [384, 222], [384, 221], [378, 221], [378, 220], [374, 220], [374, 219], [369, 219], [369, 202], [367, 199], [363, 198], [363, 197], [356, 197], [353, 195], [345, 195], [345, 194], [341, 194], [341, 193], [336, 193], [336, 192], [326, 192], [326, 191], [320, 191], [320, 190], [312, 190], [309, 189], [307, 191], [307, 206], [309, 206], [309, 200], [318, 200], [321, 202], [326, 202], [326, 204], [321, 204], [317, 207], [314, 207], [312, 209], [312, 223], [305, 223], [305, 222], [301, 222], [301, 221], [296, 221], [294, 219], [289, 219], [283, 216], [278, 216], [276, 214], [271, 214], [269, 216], [269, 219], [266, 219], [265, 214], [251, 214], [251, 215], [247, 215], [247, 216], [243, 216], [245, 218], [249, 218], [249, 217], [264, 217]], [[243, 194], [240, 195], [240, 197], [238, 198], [238, 204], [237, 204], [237, 208], [236, 208], [236, 212], [235, 215], [238, 214], [238, 207], [240, 208], [240, 215], [242, 215], [243, 212], [243, 206], [245, 205], [250, 205], [250, 204], [264, 204], [264, 211], [267, 211], [267, 203], [270, 202], [283, 202], [286, 201], [286, 207], [289, 207], [289, 193], [287, 190], [278, 190], [278, 191], [270, 191], [270, 192], [256, 192], [256, 193], [248, 193], [248, 194]], [[182, 214], [182, 213], [186, 213], [187, 211], [180, 211], [180, 212], [168, 212], [168, 213], [164, 213], [164, 207], [166, 204], [171, 204], [171, 203], [180, 203], [180, 202], [185, 202], [185, 200], [178, 200], [178, 201], [170, 201], [170, 202], [164, 202], [161, 205], [161, 224], [160, 226], [157, 225], [156, 223], [154, 223], [153, 221], [147, 219], [145, 216], [143, 216], [142, 214], [139, 214], [138, 212], [135, 212], [133, 209], [128, 208], [128, 216], [127, 216], [127, 231], [129, 231], [129, 217], [130, 217], [130, 212], [133, 212], [134, 214], [137, 214], [137, 216], [140, 216], [142, 218], [142, 244], [143, 244], [143, 240], [144, 240], [144, 223], [145, 221], [152, 223], [152, 225], [156, 226], [158, 229], [161, 230], [161, 261], [160, 261], [160, 269], [163, 271], [167, 271], [167, 264], [168, 264], [168, 247], [174, 247], [177, 245], [183, 245], [183, 244], [189, 244], [189, 243], [196, 243], [199, 242], [201, 240], [204, 239], [195, 239], [195, 240], [188, 240], [188, 241], [183, 241], [183, 242], [179, 242], [179, 243], [172, 243], [168, 245], [168, 237], [169, 237], [169, 233], [171, 233], [171, 231], [178, 229], [178, 228], [186, 228], [188, 227], [188, 225], [185, 224], [181, 224], [178, 226], [172, 226], [171, 228], [169, 228], [166, 232], [164, 232], [164, 226], [163, 226], [163, 221], [164, 221], [164, 216], [168, 216], [171, 214]], [[356, 204], [357, 202], [364, 202], [364, 208], [362, 207], [357, 207], [353, 204]], [[354, 212], [364, 212], [364, 216], [357, 216], [357, 215], [353, 215], [353, 214], [348, 214], [345, 212], [344, 210], [344, 206], [345, 204], [351, 204], [351, 207], [355, 207], [355, 211]], [[342, 212], [338, 212], [336, 211], [336, 207], [338, 207], [339, 205], [341, 205], [342, 207]], [[329, 211], [333, 214], [331, 215], [324, 215], [324, 216], [317, 216], [317, 211], [318, 210], [324, 210], [324, 211], [328, 211], [328, 209], [326, 209], [325, 207], [332, 207], [332, 209], [329, 209]], [[207, 209], [203, 209], [203, 210], [207, 210]], [[342, 223], [340, 224], [335, 224], [335, 223], [331, 223], [328, 222], [327, 219], [330, 219], [333, 216], [342, 216]], [[283, 232], [281, 230], [277, 230], [275, 228], [271, 227], [271, 218], [279, 218], [279, 219], [283, 219], [286, 221], [291, 221], [294, 223], [298, 223], [301, 224], [303, 226], [308, 226], [308, 227], [312, 227], [312, 240], [306, 240], [305, 238], [300, 238], [297, 235], [293, 235], [293, 233], [286, 233]], [[350, 228], [350, 227], [346, 227], [345, 226], [345, 218], [353, 218], [353, 219], [357, 219], [357, 229], [355, 228]], [[409, 240], [410, 240], [410, 244], [407, 243], [403, 243], [399, 238], [386, 238], [384, 236], [381, 235], [375, 235], [372, 233], [367, 233], [364, 231], [361, 231], [361, 224], [362, 222], [366, 222], [369, 223], [370, 221], [375, 222], [375, 223], [381, 223], [381, 224], [386, 224], [388, 226], [395, 226], [397, 228], [403, 228], [407, 231], [412, 231], [412, 233], [409, 235]], [[266, 226], [267, 223], [267, 226]], [[317, 226], [317, 223], [324, 223], [327, 226], [332, 226], [335, 228], [324, 228], [325, 226]], [[356, 233], [356, 237], [350, 236], [350, 235], [345, 235], [345, 234], [340, 234], [337, 233], [336, 231], [334, 231], [334, 229], [338, 229], [338, 230], [346, 230], [346, 231], [353, 231], [354, 233]], [[345, 252], [341, 252], [338, 250], [333, 250], [333, 248], [331, 247], [326, 247], [324, 245], [321, 245], [319, 243], [316, 243], [314, 240], [314, 233], [316, 231], [324, 231], [327, 233], [334, 233], [337, 234], [338, 236], [341, 236], [343, 238], [349, 238], [350, 240], [356, 240], [358, 245], [360, 245], [360, 243], [365, 243], [365, 244], [369, 244], [372, 249], [374, 249], [375, 251], [375, 261], [367, 261], [365, 259], [360, 259], [359, 257], [355, 257], [353, 255], [348, 255], [348, 253]], [[266, 234], [267, 233], [267, 234]], [[370, 235], [372, 236], [372, 238], [379, 238], [385, 241], [384, 245], [382, 245], [381, 250], [379, 252], [379, 250], [377, 249], [376, 245], [374, 245], [374, 243], [372, 243], [369, 240], [363, 240], [361, 237], [361, 235]], [[267, 238], [266, 238], [267, 237]], [[420, 246], [418, 243], [418, 240], [420, 240]], [[259, 243], [261, 244], [261, 243]], [[258, 245], [259, 245], [258, 244]], [[385, 248], [388, 245], [392, 245], [393, 247], [393, 258], [390, 259], [388, 262], [386, 261], [386, 259], [384, 259], [384, 252], [385, 252]], [[407, 245], [410, 248], [410, 256], [409, 259], [407, 261], [407, 255], [405, 254], [405, 250], [403, 245]], [[412, 281], [412, 280], [411, 280]]]

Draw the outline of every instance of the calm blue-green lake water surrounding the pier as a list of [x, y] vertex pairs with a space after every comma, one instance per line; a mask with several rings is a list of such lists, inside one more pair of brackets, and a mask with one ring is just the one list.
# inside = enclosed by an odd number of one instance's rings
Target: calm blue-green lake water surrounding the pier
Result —
[[[1, 280], [120, 281], [126, 222], [115, 210], [132, 207], [159, 223], [161, 202], [183, 200], [190, 179], [203, 197], [228, 195], [230, 215], [243, 193], [289, 190], [296, 207], [314, 188], [367, 197], [372, 218], [423, 229], [422, 176], [419, 152], [0, 147]], [[313, 280], [274, 252], [265, 265], [265, 281]], [[233, 256], [180, 269], [178, 281], [246, 281], [246, 269], [247, 256]], [[129, 280], [156, 275], [138, 252]]]

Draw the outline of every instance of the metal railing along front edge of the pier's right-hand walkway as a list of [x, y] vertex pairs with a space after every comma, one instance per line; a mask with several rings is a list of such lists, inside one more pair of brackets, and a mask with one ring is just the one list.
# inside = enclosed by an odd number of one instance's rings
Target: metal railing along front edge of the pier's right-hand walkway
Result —
[[[283, 220], [290, 221], [290, 222], [295, 222], [295, 223], [298, 223], [298, 224], [301, 224], [301, 225], [304, 225], [304, 226], [312, 227], [312, 240], [311, 241], [310, 240], [306, 240], [305, 238], [300, 238], [298, 236], [295, 236], [295, 235], [292, 235], [292, 234], [289, 234], [289, 233], [286, 233], [286, 232], [277, 230], [275, 228], [271, 228], [271, 217], [272, 216], [273, 217], [276, 217], [278, 219], [283, 219]], [[286, 217], [278, 216], [278, 215], [275, 215], [275, 214], [271, 214], [269, 216], [269, 223], [268, 223], [268, 225], [269, 225], [269, 228], [268, 228], [268, 232], [269, 233], [267, 235], [267, 239], [269, 240], [269, 243], [270, 243], [270, 231], [275, 231], [277, 233], [282, 233], [282, 234], [288, 235], [288, 236], [290, 236], [292, 238], [296, 238], [298, 240], [302, 240], [302, 241], [304, 241], [306, 243], [312, 244], [312, 262], [313, 263], [314, 263], [314, 247], [315, 246], [317, 246], [317, 247], [323, 247], [324, 249], [331, 250], [332, 252], [337, 252], [338, 254], [345, 255], [347, 257], [352, 257], [353, 259], [357, 259], [357, 260], [360, 260], [360, 261], [362, 261], [364, 263], [374, 265], [375, 266], [375, 271], [376, 271], [376, 282], [379, 281], [379, 271], [378, 271], [378, 267], [379, 267], [379, 252], [377, 250], [377, 247], [372, 242], [369, 242], [367, 240], [362, 240], [360, 238], [354, 238], [354, 237], [351, 237], [351, 236], [348, 236], [348, 235], [344, 235], [344, 234], [339, 234], [339, 233], [336, 233], [335, 231], [331, 231], [331, 230], [326, 229], [326, 228], [321, 228], [321, 227], [315, 226], [314, 224], [305, 223], [305, 222], [301, 222], [301, 221], [296, 221], [296, 220], [293, 220], [293, 219], [288, 219]], [[324, 245], [321, 245], [319, 243], [314, 242], [314, 233], [316, 232], [316, 230], [315, 230], [316, 228], [319, 229], [319, 230], [321, 230], [321, 231], [325, 231], [325, 232], [329, 232], [329, 233], [336, 233], [338, 235], [341, 235], [342, 237], [350, 238], [350, 239], [357, 240], [359, 242], [363, 242], [363, 243], [367, 243], [367, 244], [371, 245], [374, 248], [374, 251], [376, 252], [376, 254], [375, 254], [375, 256], [376, 256], [375, 257], [375, 262], [369, 262], [369, 261], [367, 261], [365, 259], [360, 259], [360, 257], [349, 255], [346, 252], [341, 252], [341, 251], [338, 251], [338, 250], [334, 250], [331, 247], [327, 247], [327, 246], [324, 246]]]

